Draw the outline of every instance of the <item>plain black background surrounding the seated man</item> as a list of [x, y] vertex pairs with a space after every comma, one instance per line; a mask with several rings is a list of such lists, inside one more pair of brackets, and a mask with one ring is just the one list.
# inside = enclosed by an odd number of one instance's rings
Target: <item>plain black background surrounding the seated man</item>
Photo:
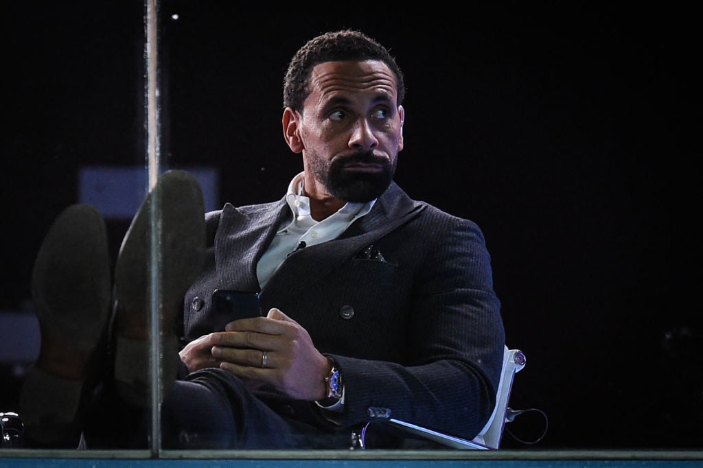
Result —
[[[145, 162], [143, 5], [67, 3], [2, 17], [6, 311], [78, 169]], [[699, 27], [667, 5], [162, 1], [162, 164], [216, 167], [221, 202], [277, 200], [302, 168], [280, 129], [290, 56], [367, 32], [406, 74], [396, 181], [484, 230], [527, 354], [511, 405], [549, 418], [503, 445], [700, 448]], [[127, 224], [109, 221], [115, 252]]]

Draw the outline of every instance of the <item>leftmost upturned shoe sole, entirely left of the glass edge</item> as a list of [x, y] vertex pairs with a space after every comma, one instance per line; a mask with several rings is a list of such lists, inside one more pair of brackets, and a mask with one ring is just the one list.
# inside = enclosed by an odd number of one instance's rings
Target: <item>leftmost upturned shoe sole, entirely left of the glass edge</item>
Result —
[[39, 446], [77, 444], [110, 316], [108, 235], [96, 209], [75, 204], [53, 222], [34, 262], [32, 300], [41, 348], [20, 389], [25, 435]]

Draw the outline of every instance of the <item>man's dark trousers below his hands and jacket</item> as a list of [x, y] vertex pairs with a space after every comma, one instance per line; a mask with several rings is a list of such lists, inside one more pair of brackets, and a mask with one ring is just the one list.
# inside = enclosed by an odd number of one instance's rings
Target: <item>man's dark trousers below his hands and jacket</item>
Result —
[[[162, 403], [162, 448], [168, 449], [343, 449], [351, 429], [326, 422], [314, 403], [249, 391], [217, 368], [176, 380]], [[103, 385], [84, 430], [88, 449], [148, 448], [150, 411], [124, 403]]]

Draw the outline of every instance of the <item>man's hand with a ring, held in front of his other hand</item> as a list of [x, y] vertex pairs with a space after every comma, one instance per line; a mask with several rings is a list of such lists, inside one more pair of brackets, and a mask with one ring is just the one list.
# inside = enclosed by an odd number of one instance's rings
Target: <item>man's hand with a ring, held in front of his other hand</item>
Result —
[[[225, 330], [193, 342], [214, 344], [211, 361], [194, 352], [200, 344], [193, 345], [194, 365], [219, 362], [221, 369], [252, 386], [271, 384], [292, 398], [315, 401], [327, 396], [325, 377], [330, 361], [315, 348], [307, 330], [285, 313], [272, 308], [266, 317], [234, 320]], [[262, 368], [264, 351], [266, 366]]]

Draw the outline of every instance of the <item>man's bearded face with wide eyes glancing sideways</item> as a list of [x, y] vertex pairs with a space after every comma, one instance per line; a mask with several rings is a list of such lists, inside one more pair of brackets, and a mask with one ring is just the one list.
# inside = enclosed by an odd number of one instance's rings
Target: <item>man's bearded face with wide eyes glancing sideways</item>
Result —
[[368, 202], [388, 188], [403, 148], [404, 111], [396, 105], [395, 85], [378, 60], [314, 67], [297, 115], [307, 193]]

